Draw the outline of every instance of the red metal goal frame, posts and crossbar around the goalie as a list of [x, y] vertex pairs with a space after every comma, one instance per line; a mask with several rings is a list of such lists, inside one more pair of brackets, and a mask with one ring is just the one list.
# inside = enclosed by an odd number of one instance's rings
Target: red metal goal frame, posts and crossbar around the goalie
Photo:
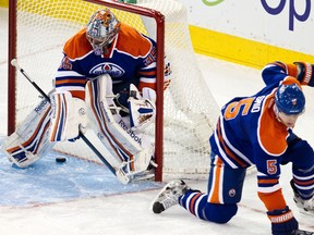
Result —
[[[9, 1], [9, 52], [8, 52], [8, 135], [14, 133], [15, 107], [16, 107], [16, 69], [11, 61], [16, 58], [17, 0]], [[157, 42], [157, 87], [156, 94], [156, 122], [155, 122], [155, 160], [158, 166], [155, 172], [155, 181], [162, 182], [162, 157], [164, 157], [164, 57], [165, 57], [165, 16], [155, 10], [119, 2], [118, 0], [84, 0], [86, 2], [113, 8], [130, 13], [154, 18], [156, 22]], [[65, 41], [64, 41], [65, 42]]]

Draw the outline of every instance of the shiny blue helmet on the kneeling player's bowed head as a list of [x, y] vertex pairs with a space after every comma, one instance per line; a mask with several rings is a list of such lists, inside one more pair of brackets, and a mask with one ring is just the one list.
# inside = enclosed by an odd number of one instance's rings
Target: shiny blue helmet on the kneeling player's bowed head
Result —
[[295, 115], [304, 111], [305, 97], [297, 84], [280, 85], [275, 94], [275, 103], [280, 112]]

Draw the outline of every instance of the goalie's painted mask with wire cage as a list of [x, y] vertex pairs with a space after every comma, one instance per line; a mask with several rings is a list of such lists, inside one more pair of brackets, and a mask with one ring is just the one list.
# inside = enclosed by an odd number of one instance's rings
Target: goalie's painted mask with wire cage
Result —
[[120, 22], [114, 14], [107, 8], [94, 13], [87, 23], [86, 37], [90, 42], [95, 54], [100, 55], [107, 50], [119, 33]]

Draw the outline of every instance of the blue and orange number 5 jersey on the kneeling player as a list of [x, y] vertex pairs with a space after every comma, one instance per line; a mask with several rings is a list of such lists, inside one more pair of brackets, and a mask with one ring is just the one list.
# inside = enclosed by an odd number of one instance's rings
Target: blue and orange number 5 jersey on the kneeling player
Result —
[[[314, 162], [310, 157], [313, 149], [280, 123], [274, 112], [275, 92], [279, 84], [300, 85], [294, 78], [295, 70], [295, 65], [281, 62], [265, 66], [262, 73], [266, 84], [264, 89], [251, 97], [237, 97], [224, 106], [216, 131], [209, 138], [212, 151], [226, 165], [232, 169], [256, 165], [258, 196], [268, 210], [271, 210], [275, 201], [282, 208], [286, 206], [279, 176], [280, 163], [291, 160], [290, 141], [298, 140], [293, 148], [300, 145], [293, 159], [294, 182], [302, 185], [303, 190], [300, 191], [304, 195], [313, 194]], [[300, 169], [307, 171], [305, 173]]]

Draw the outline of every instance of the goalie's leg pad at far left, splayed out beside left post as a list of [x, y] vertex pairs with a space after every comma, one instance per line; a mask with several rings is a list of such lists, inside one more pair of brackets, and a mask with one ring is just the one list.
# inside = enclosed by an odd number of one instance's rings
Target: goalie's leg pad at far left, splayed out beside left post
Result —
[[50, 103], [43, 100], [17, 129], [7, 137], [2, 149], [8, 159], [20, 168], [27, 168], [51, 150], [49, 141]]

